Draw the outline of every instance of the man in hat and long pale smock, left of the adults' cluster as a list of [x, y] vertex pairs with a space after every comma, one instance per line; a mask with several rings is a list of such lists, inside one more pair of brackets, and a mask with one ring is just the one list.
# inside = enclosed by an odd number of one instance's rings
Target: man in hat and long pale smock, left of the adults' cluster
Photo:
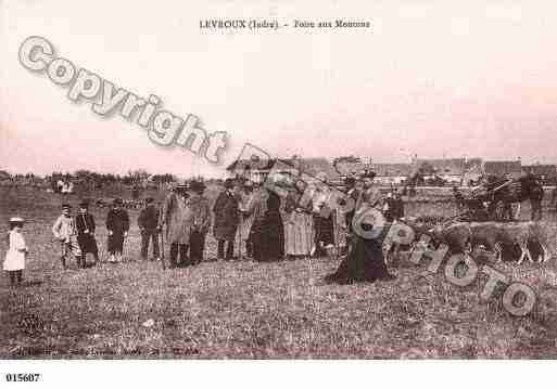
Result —
[[188, 197], [188, 186], [185, 183], [175, 186], [164, 199], [159, 216], [159, 230], [166, 226], [166, 239], [170, 243], [169, 268], [183, 265], [188, 261], [188, 246], [193, 223], [193, 212], [187, 204]]

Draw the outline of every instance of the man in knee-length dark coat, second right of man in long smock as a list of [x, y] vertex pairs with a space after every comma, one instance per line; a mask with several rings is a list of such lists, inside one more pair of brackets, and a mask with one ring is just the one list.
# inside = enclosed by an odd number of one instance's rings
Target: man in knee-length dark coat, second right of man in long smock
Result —
[[218, 242], [217, 259], [230, 260], [233, 256], [236, 231], [240, 219], [240, 197], [233, 192], [233, 180], [227, 179], [225, 191], [218, 195], [213, 206], [215, 213], [213, 234]]

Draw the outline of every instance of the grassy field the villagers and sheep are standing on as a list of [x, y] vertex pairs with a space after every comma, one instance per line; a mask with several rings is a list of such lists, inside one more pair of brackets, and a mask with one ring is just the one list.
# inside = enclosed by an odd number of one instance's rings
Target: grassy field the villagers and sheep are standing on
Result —
[[[516, 317], [495, 298], [481, 301], [486, 276], [466, 288], [401, 260], [392, 282], [326, 285], [339, 261], [204, 262], [162, 271], [139, 256], [137, 211], [127, 263], [63, 271], [51, 225], [59, 195], [1, 189], [0, 216], [29, 220], [25, 286], [0, 280], [2, 358], [550, 358], [557, 356], [557, 276], [548, 263], [494, 265], [534, 287], [532, 313]], [[78, 197], [66, 198], [74, 205]], [[413, 203], [409, 215], [452, 215], [451, 204]], [[105, 257], [106, 209], [92, 209]], [[527, 216], [524, 209], [523, 216]], [[547, 220], [557, 231], [554, 220]], [[7, 225], [2, 225], [2, 236]], [[553, 241], [555, 247], [555, 241]], [[0, 251], [5, 252], [5, 239]], [[208, 242], [208, 256], [215, 244]], [[3, 260], [3, 257], [2, 257]]]

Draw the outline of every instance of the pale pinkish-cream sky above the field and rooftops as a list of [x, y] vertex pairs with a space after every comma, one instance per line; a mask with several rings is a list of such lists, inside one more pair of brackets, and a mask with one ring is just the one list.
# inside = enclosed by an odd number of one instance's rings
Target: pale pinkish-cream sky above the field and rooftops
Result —
[[[0, 169], [221, 177], [249, 142], [273, 156], [557, 163], [557, 4], [528, 1], [0, 0]], [[530, 5], [529, 5], [530, 4]], [[207, 31], [206, 18], [369, 21], [369, 29]], [[48, 39], [159, 108], [228, 133], [218, 164], [18, 62]]]

